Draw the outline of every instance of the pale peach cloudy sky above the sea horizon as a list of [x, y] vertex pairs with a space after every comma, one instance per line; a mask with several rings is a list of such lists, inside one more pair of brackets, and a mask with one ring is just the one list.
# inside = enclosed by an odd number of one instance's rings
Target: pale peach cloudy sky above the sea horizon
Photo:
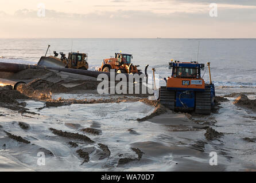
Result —
[[256, 1], [0, 0], [0, 27], [0, 38], [256, 38]]

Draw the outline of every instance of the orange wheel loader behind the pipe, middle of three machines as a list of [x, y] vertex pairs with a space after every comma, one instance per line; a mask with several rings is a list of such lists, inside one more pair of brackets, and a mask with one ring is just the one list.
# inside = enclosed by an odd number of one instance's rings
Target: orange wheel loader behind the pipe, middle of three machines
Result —
[[115, 73], [142, 74], [141, 70], [137, 69], [139, 65], [131, 63], [132, 59], [133, 55], [131, 54], [115, 53], [115, 58], [103, 60], [98, 71], [110, 72], [110, 69], [115, 69]]

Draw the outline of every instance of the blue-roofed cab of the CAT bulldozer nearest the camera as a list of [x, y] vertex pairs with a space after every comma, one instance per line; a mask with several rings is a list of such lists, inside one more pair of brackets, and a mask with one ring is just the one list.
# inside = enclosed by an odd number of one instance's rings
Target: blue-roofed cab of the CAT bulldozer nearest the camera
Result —
[[172, 69], [172, 78], [201, 78], [201, 70], [204, 64], [197, 62], [172, 61], [169, 63], [169, 69]]

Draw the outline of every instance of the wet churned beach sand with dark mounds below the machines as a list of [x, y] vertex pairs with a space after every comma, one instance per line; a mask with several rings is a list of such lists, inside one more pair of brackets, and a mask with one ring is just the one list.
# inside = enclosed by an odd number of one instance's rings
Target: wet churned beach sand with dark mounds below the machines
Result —
[[[255, 100], [239, 93], [216, 97], [215, 112], [202, 116], [172, 112], [136, 95], [97, 96], [98, 82], [91, 77], [50, 70], [1, 75], [29, 82], [18, 91], [0, 87], [0, 164], [6, 158], [9, 162], [3, 170], [15, 169], [11, 165], [43, 171], [70, 166], [88, 171], [254, 169], [240, 155], [249, 149], [246, 153], [253, 160], [253, 131], [241, 134], [246, 148], [234, 146], [235, 154], [230, 146], [238, 128], [227, 130], [234, 123], [225, 124], [227, 116], [236, 114], [245, 116], [244, 124], [255, 121]], [[71, 94], [77, 98], [69, 98]], [[240, 114], [244, 110], [247, 113]], [[38, 152], [47, 155], [46, 169], [35, 164]], [[210, 166], [210, 152], [219, 154], [218, 166]]]

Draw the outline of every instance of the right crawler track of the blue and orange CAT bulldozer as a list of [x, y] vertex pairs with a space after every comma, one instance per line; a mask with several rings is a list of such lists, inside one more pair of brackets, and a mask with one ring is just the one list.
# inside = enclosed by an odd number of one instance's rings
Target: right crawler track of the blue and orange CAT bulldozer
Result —
[[197, 114], [211, 114], [211, 89], [204, 92], [196, 92], [196, 108]]

